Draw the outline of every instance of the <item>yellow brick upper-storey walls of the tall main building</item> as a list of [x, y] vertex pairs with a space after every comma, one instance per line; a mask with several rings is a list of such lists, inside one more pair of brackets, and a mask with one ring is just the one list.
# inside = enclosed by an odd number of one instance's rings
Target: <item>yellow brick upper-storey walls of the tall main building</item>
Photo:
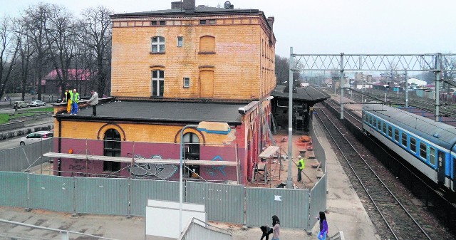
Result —
[[[163, 98], [252, 100], [271, 93], [275, 41], [264, 16], [206, 16], [212, 24], [205, 25], [201, 19], [160, 19], [165, 26], [151, 26], [150, 17], [113, 19], [111, 95], [150, 98], [154, 70], [165, 72]], [[151, 53], [156, 36], [165, 38], [164, 53]], [[201, 51], [204, 36], [214, 38], [213, 52]]]

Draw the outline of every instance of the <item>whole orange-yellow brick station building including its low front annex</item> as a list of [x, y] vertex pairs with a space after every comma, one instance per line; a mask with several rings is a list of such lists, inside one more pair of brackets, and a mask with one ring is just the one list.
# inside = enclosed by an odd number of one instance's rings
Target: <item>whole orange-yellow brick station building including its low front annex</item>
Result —
[[227, 122], [230, 133], [185, 130], [184, 157], [194, 171], [187, 177], [249, 181], [266, 145], [263, 125], [276, 86], [274, 17], [228, 5], [184, 0], [167, 10], [112, 15], [115, 100], [95, 117], [90, 110], [62, 114], [56, 105], [56, 172], [177, 179], [182, 127], [209, 121]]

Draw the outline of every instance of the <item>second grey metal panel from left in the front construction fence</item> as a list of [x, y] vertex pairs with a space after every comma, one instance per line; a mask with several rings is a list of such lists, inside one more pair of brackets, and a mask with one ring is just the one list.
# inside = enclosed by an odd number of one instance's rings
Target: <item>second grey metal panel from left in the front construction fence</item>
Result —
[[73, 212], [73, 178], [29, 174], [29, 182], [29, 207]]

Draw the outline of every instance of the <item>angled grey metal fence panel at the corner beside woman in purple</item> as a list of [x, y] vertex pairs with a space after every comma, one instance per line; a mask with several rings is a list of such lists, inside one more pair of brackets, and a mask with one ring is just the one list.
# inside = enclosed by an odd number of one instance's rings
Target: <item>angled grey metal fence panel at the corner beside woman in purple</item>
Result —
[[318, 212], [326, 211], [326, 182], [328, 174], [323, 174], [323, 177], [311, 189], [311, 206], [310, 206], [310, 221], [308, 229], [316, 223], [314, 216], [318, 216]]

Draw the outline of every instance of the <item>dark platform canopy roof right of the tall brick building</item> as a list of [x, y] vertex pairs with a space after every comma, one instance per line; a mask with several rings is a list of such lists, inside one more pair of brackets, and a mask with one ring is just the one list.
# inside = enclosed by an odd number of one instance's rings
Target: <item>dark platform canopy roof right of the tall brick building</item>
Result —
[[[277, 85], [274, 91], [271, 93], [271, 96], [274, 98], [289, 98], [289, 88], [288, 86], [284, 85]], [[327, 93], [323, 93], [323, 91], [318, 90], [312, 86], [308, 86], [305, 88], [294, 88], [293, 91], [293, 99], [294, 100], [302, 100], [304, 102], [309, 102], [311, 104], [321, 102], [331, 98], [330, 95]]]

